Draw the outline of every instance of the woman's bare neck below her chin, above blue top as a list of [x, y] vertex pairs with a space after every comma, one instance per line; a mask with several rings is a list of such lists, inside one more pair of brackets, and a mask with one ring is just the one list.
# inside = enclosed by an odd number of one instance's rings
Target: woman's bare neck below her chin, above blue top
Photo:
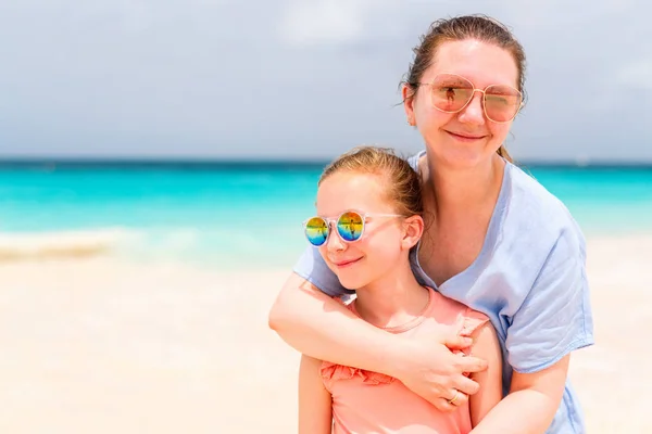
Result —
[[[426, 157], [427, 158], [427, 157]], [[490, 162], [468, 169], [434, 167], [426, 159], [426, 184], [435, 201], [437, 210], [477, 208], [486, 203], [496, 203], [505, 162], [497, 154]]]

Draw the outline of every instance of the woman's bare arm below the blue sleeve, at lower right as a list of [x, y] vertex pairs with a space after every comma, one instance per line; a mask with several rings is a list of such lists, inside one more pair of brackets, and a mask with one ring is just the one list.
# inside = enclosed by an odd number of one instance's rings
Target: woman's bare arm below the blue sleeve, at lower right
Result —
[[514, 372], [510, 394], [473, 434], [542, 434], [560, 407], [570, 355], [535, 373]]

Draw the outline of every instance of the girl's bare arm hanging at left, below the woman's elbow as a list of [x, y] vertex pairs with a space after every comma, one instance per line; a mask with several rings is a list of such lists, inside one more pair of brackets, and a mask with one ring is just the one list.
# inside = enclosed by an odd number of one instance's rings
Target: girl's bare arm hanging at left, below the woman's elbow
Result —
[[333, 397], [319, 376], [322, 360], [301, 356], [299, 368], [299, 434], [333, 432]]

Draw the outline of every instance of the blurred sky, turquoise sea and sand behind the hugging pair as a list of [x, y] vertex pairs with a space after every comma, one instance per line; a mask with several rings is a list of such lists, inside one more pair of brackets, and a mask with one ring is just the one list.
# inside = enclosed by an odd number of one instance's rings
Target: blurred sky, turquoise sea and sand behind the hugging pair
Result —
[[[590, 432], [652, 429], [634, 357], [652, 327], [650, 12], [0, 2], [0, 429], [291, 432], [296, 354], [266, 312], [305, 246], [321, 169], [362, 143], [423, 149], [399, 82], [430, 23], [464, 13], [523, 43], [528, 103], [507, 149], [588, 238], [599, 345], [574, 375]], [[606, 397], [591, 386], [605, 376]], [[634, 407], [616, 411], [620, 398]]]

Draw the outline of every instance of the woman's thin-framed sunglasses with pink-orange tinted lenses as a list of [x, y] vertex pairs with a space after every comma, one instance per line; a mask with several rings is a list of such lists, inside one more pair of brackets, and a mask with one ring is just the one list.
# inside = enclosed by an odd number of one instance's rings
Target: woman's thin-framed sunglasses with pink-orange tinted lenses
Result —
[[482, 108], [489, 120], [509, 123], [523, 105], [523, 94], [511, 86], [490, 85], [484, 90], [455, 74], [438, 74], [431, 82], [419, 82], [430, 87], [432, 106], [444, 113], [459, 113], [468, 105], [475, 92], [482, 93]]

